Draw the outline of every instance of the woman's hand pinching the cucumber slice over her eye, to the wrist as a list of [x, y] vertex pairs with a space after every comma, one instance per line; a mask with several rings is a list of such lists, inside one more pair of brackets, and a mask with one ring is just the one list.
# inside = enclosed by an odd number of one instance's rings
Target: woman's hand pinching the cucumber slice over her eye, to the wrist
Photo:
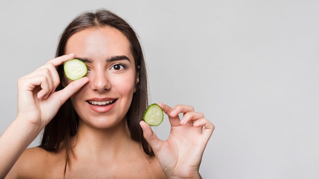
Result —
[[18, 80], [17, 119], [44, 128], [62, 104], [89, 81], [89, 78], [83, 77], [71, 82], [63, 90], [55, 92], [60, 84], [56, 67], [74, 57], [75, 55], [71, 53], [51, 59]]

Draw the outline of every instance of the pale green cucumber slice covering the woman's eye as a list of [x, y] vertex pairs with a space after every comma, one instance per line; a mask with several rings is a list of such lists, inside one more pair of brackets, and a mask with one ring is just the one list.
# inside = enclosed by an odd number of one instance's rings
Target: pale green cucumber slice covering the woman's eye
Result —
[[72, 81], [84, 77], [87, 72], [87, 66], [79, 59], [70, 59], [64, 63], [65, 76]]

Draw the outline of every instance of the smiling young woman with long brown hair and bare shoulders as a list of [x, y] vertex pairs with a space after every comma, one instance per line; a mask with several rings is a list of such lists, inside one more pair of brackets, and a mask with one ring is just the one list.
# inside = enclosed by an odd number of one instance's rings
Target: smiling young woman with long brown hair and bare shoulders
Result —
[[[85, 12], [66, 27], [56, 56], [18, 80], [18, 114], [0, 137], [0, 176], [200, 178], [214, 125], [192, 106], [162, 103], [172, 126], [166, 141], [142, 121], [146, 68], [128, 23], [108, 10]], [[72, 58], [88, 67], [75, 81], [63, 71]], [[25, 150], [43, 128], [40, 146]]]

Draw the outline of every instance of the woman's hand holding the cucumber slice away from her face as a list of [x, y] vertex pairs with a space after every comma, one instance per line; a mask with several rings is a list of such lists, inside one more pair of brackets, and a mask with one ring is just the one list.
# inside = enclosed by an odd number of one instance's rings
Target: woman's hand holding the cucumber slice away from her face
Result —
[[[200, 178], [199, 165], [215, 126], [204, 118], [204, 114], [194, 112], [192, 106], [171, 108], [162, 103], [158, 105], [169, 116], [171, 133], [167, 140], [160, 140], [150, 126], [141, 121], [144, 138], [168, 178]], [[181, 120], [179, 113], [183, 113]]]

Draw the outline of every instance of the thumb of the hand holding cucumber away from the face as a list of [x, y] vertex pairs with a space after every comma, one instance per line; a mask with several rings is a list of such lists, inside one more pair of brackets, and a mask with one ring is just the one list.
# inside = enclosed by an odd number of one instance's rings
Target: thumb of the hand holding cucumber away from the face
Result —
[[155, 135], [155, 133], [152, 131], [151, 127], [147, 125], [144, 121], [140, 122], [140, 126], [143, 129], [143, 136], [145, 140], [148, 142], [148, 144], [152, 147], [152, 150], [158, 151], [161, 145], [161, 140], [158, 139], [158, 137]]

